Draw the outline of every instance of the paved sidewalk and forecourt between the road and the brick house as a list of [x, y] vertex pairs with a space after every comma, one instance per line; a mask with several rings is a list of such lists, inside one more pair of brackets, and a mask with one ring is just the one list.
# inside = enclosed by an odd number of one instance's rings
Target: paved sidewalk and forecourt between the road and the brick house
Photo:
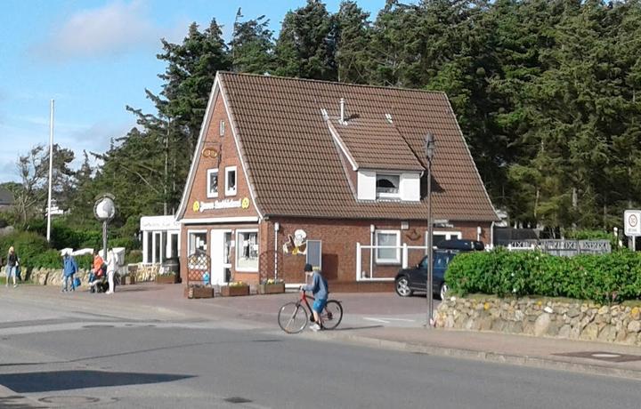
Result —
[[[114, 313], [120, 316], [131, 314], [131, 317], [165, 317], [168, 320], [244, 321], [256, 328], [279, 334], [281, 332], [276, 325], [278, 310], [283, 303], [296, 300], [296, 293], [187, 300], [183, 297], [182, 285], [129, 285], [118, 287], [113, 295], [86, 292], [61, 294], [58, 289], [35, 285], [16, 290], [2, 292], [2, 295], [40, 298], [41, 302], [65, 300], [66, 304], [78, 309], [101, 305], [107, 309], [112, 307]], [[337, 330], [283, 335], [641, 380], [639, 347], [503, 333], [427, 329], [423, 326], [425, 298], [402, 299], [395, 294], [384, 293], [333, 293], [332, 296], [342, 300], [345, 308], [344, 321]], [[374, 316], [377, 321], [369, 318]], [[397, 322], [394, 320], [403, 324], [394, 324]]]

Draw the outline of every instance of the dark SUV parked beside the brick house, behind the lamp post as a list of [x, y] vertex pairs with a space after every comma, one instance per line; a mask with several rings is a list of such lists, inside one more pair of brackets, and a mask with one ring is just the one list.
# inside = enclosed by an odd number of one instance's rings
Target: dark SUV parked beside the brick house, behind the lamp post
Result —
[[[445, 270], [450, 261], [460, 252], [471, 252], [483, 250], [482, 242], [475, 240], [443, 240], [436, 245], [434, 250], [434, 269], [432, 280], [432, 293], [438, 294], [441, 300], [448, 291], [445, 283]], [[428, 256], [423, 257], [416, 266], [411, 269], [400, 269], [394, 280], [394, 289], [402, 297], [409, 297], [415, 291], [425, 293], [427, 285], [427, 262]]]

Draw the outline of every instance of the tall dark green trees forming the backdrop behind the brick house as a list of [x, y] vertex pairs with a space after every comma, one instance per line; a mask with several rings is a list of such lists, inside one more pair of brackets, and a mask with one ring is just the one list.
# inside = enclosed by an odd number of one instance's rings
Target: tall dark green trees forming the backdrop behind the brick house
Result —
[[[96, 169], [85, 157], [69, 171], [73, 152], [58, 147], [57, 197], [74, 225], [95, 223], [104, 191], [117, 197], [122, 235], [141, 214], [174, 212], [218, 70], [446, 92], [493, 204], [513, 223], [611, 229], [641, 205], [641, 0], [387, 0], [376, 16], [353, 1], [332, 13], [307, 0], [278, 36], [239, 9], [228, 42], [213, 19], [161, 45], [161, 92], [146, 90], [155, 112], [127, 107], [138, 126], [90, 153]], [[37, 170], [46, 154], [20, 166]], [[13, 189], [27, 221], [42, 195], [23, 173]]]

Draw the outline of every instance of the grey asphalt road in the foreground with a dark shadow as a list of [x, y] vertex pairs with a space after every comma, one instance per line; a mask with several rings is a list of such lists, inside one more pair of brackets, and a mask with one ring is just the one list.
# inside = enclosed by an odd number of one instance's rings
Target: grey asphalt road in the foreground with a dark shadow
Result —
[[369, 349], [257, 320], [108, 302], [105, 312], [73, 294], [0, 292], [0, 407], [637, 409], [641, 398], [637, 381]]

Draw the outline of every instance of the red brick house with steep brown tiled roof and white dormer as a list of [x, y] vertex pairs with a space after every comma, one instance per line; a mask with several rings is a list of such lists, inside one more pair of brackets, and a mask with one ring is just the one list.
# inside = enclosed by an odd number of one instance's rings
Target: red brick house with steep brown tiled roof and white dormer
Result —
[[444, 93], [218, 73], [176, 213], [183, 280], [205, 253], [213, 284], [303, 283], [309, 261], [334, 291], [391, 288], [426, 253], [428, 132], [434, 243], [489, 241], [499, 219]]

